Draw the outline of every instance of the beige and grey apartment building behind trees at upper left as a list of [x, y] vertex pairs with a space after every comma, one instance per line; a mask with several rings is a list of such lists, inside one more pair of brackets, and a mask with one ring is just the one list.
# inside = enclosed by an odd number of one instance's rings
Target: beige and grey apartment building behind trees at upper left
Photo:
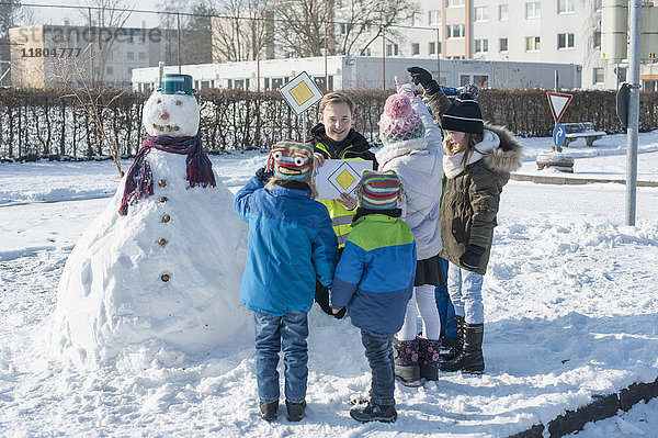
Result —
[[38, 24], [10, 29], [9, 37], [12, 87], [45, 89], [64, 83], [129, 86], [133, 69], [168, 58], [177, 33], [158, 27]]

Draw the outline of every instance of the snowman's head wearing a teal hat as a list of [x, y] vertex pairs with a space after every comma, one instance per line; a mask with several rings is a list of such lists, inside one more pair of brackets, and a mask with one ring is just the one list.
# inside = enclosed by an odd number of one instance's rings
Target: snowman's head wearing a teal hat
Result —
[[198, 102], [189, 75], [164, 75], [162, 88], [144, 104], [141, 121], [151, 136], [192, 137], [198, 132]]

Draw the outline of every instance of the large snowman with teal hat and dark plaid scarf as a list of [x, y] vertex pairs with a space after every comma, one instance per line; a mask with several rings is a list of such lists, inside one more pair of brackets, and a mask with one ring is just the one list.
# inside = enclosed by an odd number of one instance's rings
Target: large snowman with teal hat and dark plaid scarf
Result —
[[248, 229], [202, 149], [191, 86], [164, 75], [144, 106], [143, 147], [64, 268], [49, 340], [78, 366], [208, 353], [248, 336]]

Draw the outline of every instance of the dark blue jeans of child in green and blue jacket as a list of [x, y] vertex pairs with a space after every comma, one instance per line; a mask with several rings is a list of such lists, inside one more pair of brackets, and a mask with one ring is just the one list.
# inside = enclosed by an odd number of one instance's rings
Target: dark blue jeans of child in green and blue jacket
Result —
[[373, 374], [371, 401], [379, 406], [395, 404], [395, 363], [393, 361], [393, 336], [373, 336], [363, 328], [361, 341]]

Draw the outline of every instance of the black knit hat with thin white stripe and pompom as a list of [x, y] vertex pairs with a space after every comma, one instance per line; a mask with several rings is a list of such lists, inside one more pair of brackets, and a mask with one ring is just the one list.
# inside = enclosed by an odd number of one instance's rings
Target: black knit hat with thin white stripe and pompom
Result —
[[479, 103], [477, 103], [478, 96], [479, 91], [473, 83], [460, 88], [460, 97], [453, 101], [441, 117], [441, 127], [445, 131], [481, 134], [485, 124]]

